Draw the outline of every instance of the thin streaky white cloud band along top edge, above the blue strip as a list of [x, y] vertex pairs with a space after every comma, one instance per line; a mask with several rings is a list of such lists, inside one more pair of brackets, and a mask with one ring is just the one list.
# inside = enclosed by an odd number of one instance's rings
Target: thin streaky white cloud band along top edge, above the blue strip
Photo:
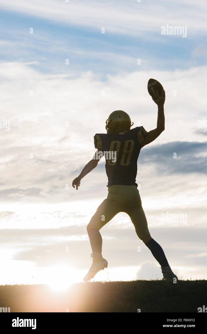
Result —
[[107, 3], [107, 5], [103, 1], [90, 1], [89, 3], [80, 0], [68, 2], [20, 0], [18, 4], [11, 4], [6, 0], [1, 1], [1, 8], [5, 10], [37, 16], [61, 24], [96, 29], [100, 33], [104, 27], [105, 33], [135, 36], [147, 32], [147, 36], [150, 38], [149, 32], [156, 31], [161, 36], [161, 26], [166, 25], [166, 23], [187, 26], [191, 35], [206, 32], [204, 1], [199, 1], [199, 3], [184, 1], [182, 10], [178, 11], [179, 7], [178, 0], [171, 4], [166, 0], [162, 1], [161, 4], [149, 1], [144, 6], [142, 2], [123, 0], [119, 1], [118, 5], [114, 1]]

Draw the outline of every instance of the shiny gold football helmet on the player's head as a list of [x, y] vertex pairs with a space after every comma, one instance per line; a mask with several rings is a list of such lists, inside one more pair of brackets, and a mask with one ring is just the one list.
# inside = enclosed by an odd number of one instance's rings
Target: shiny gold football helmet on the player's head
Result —
[[115, 110], [106, 120], [105, 128], [107, 133], [118, 134], [130, 130], [133, 124], [134, 123], [131, 124], [131, 119], [127, 113], [123, 110]]

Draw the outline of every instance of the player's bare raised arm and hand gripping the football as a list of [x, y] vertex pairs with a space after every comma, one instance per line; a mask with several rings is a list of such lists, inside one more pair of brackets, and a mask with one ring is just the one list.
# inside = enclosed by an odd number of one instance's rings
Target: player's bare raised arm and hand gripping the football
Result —
[[141, 144], [141, 148], [155, 140], [165, 129], [165, 115], [164, 115], [164, 103], [165, 103], [165, 91], [162, 90], [161, 96], [156, 91], [157, 98], [152, 97], [152, 100], [158, 106], [158, 115], [157, 115], [157, 127], [154, 130], [148, 132], [145, 140]]

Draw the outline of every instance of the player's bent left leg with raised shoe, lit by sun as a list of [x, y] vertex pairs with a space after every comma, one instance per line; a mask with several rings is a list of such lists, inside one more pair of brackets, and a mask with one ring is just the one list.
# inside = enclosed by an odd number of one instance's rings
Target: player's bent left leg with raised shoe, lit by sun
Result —
[[117, 198], [111, 198], [111, 195], [108, 194], [107, 199], [104, 199], [99, 205], [87, 226], [93, 264], [84, 277], [84, 281], [90, 281], [100, 270], [107, 268], [108, 263], [102, 256], [102, 236], [99, 230], [120, 211], [118, 202]]

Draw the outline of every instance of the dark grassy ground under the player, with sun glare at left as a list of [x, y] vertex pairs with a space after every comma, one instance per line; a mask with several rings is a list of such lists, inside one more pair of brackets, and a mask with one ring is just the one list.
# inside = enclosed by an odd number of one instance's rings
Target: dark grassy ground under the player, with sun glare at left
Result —
[[47, 285], [0, 286], [10, 312], [198, 312], [207, 306], [207, 281], [77, 283], [64, 291]]

